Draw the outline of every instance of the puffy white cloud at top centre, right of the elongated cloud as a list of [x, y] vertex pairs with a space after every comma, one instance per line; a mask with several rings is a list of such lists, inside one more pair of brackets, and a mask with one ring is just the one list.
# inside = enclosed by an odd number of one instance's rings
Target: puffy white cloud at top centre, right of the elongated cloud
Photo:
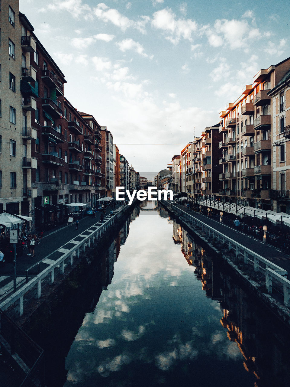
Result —
[[151, 25], [155, 29], [161, 29], [164, 33], [170, 33], [166, 39], [177, 44], [181, 38], [192, 41], [192, 34], [197, 29], [197, 24], [191, 19], [176, 19], [171, 9], [162, 9], [153, 14]]

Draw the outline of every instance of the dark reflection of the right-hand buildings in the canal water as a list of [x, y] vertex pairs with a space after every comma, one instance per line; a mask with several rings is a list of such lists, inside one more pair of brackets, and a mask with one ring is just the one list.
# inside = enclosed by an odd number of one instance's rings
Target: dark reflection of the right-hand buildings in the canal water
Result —
[[187, 231], [173, 221], [174, 243], [201, 281], [206, 296], [220, 302], [222, 326], [230, 341], [244, 357], [247, 372], [256, 377], [254, 387], [290, 385], [290, 330], [263, 305], [237, 285], [226, 267], [221, 269], [217, 260], [207, 255]]

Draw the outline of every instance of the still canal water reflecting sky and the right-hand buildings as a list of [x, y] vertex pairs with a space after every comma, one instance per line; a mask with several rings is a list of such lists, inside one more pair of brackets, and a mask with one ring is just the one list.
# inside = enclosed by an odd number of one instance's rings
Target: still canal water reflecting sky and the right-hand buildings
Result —
[[136, 207], [101, 259], [61, 386], [289, 385], [286, 327], [162, 206]]

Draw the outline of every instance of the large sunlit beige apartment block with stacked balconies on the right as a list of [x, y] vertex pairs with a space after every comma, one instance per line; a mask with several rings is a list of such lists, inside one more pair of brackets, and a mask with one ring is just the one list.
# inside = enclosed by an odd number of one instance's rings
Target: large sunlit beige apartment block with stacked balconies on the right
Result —
[[272, 111], [268, 92], [289, 70], [290, 58], [261, 69], [241, 96], [220, 113], [222, 187], [219, 195], [252, 207], [271, 209], [269, 198], [273, 166]]

